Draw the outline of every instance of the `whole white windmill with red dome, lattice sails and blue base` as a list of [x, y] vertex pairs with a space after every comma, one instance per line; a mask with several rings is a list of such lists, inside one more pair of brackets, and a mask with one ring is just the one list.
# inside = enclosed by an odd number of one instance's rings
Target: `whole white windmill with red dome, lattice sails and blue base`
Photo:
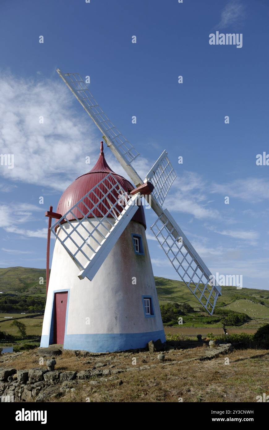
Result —
[[[150, 228], [165, 255], [210, 314], [221, 288], [212, 283], [205, 263], [162, 208], [176, 178], [167, 152], [143, 181], [131, 166], [138, 152], [110, 122], [79, 74], [57, 72], [101, 130], [135, 187], [111, 171], [101, 142], [91, 172], [67, 188], [58, 213], [52, 207], [47, 212], [47, 251], [50, 231], [56, 241], [50, 278], [47, 258], [49, 285], [47, 281], [40, 346], [63, 343], [66, 349], [108, 352], [143, 348], [150, 340], [164, 342], [141, 195], [151, 194], [149, 202], [158, 218]], [[52, 218], [58, 221], [51, 227]]]

